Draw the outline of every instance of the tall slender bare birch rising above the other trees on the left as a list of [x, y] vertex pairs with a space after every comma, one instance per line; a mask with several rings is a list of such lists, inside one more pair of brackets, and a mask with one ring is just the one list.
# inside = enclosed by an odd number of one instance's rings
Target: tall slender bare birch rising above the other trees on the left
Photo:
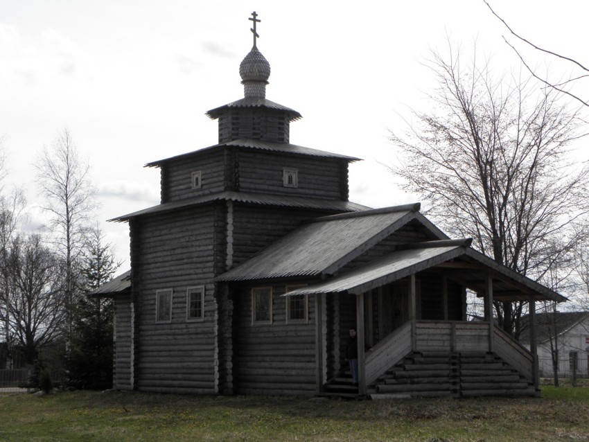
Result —
[[37, 184], [46, 199], [43, 209], [51, 215], [52, 240], [66, 265], [67, 324], [71, 332], [70, 310], [76, 290], [74, 264], [80, 257], [96, 209], [96, 191], [89, 179], [89, 165], [80, 154], [67, 129], [45, 148], [35, 164]]

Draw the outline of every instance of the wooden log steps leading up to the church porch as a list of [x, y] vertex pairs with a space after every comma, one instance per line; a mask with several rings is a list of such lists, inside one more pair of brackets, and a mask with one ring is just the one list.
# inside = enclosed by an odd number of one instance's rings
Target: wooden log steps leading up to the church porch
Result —
[[[410, 353], [369, 385], [372, 399], [537, 396], [534, 385], [494, 353]], [[322, 396], [360, 398], [349, 371]]]

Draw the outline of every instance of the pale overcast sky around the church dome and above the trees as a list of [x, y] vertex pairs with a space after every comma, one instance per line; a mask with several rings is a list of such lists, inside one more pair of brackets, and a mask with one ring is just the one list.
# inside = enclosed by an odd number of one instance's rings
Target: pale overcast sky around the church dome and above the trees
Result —
[[[586, 0], [489, 2], [520, 35], [589, 64]], [[0, 0], [5, 188], [26, 191], [26, 228], [46, 222], [35, 159], [67, 128], [91, 167], [96, 219], [126, 269], [128, 224], [107, 220], [159, 203], [159, 169], [146, 163], [217, 143], [205, 112], [243, 98], [238, 69], [254, 10], [272, 69], [266, 97], [304, 117], [290, 142], [363, 159], [350, 167], [350, 200], [375, 208], [417, 200], [386, 167], [398, 163], [388, 134], [431, 105], [432, 50], [449, 38], [467, 52], [476, 44], [495, 71], [518, 66], [507, 28], [482, 0]]]

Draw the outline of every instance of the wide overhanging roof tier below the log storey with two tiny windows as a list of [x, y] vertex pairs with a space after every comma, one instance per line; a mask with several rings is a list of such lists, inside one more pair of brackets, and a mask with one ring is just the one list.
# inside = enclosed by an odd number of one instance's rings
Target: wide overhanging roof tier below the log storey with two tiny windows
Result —
[[185, 198], [184, 200], [166, 202], [164, 204], [157, 204], [157, 206], [151, 206], [147, 209], [128, 213], [127, 215], [121, 215], [116, 218], [112, 218], [112, 220], [109, 221], [125, 222], [132, 218], [137, 218], [143, 215], [152, 215], [154, 213], [181, 210], [186, 209], [187, 207], [197, 206], [198, 204], [205, 204], [215, 201], [233, 201], [244, 202], [248, 204], [263, 204], [267, 206], [301, 207], [304, 209], [320, 209], [341, 212], [355, 212], [368, 209], [367, 206], [362, 206], [362, 204], [356, 204], [354, 202], [342, 200], [325, 200], [323, 198], [294, 197], [290, 195], [268, 195], [264, 193], [225, 191], [220, 193], [212, 193], [209, 195], [201, 195], [193, 198]]

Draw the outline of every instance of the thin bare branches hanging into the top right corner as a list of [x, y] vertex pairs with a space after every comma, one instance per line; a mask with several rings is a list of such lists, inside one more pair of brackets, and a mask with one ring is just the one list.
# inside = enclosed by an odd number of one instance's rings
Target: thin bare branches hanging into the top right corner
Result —
[[577, 100], [579, 103], [581, 103], [584, 106], [588, 106], [589, 107], [589, 99], [588, 98], [581, 98], [579, 95], [574, 94], [570, 91], [570, 89], [568, 89], [570, 86], [572, 86], [574, 83], [578, 83], [580, 80], [583, 80], [583, 78], [589, 78], [589, 68], [583, 66], [583, 64], [581, 64], [580, 62], [578, 62], [577, 60], [575, 60], [574, 58], [570, 58], [570, 57], [566, 57], [565, 55], [561, 55], [559, 53], [553, 52], [553, 51], [549, 51], [545, 48], [541, 48], [540, 46], [536, 46], [536, 44], [530, 42], [529, 40], [525, 39], [524, 37], [522, 37], [521, 35], [519, 35], [518, 33], [516, 33], [508, 24], [507, 22], [502, 19], [502, 17], [500, 17], [494, 10], [493, 8], [491, 8], [491, 5], [489, 4], [488, 1], [483, 0], [484, 3], [486, 4], [486, 6], [489, 7], [489, 10], [491, 10], [491, 12], [493, 13], [493, 15], [495, 17], [497, 17], [502, 24], [504, 24], [504, 26], [509, 30], [509, 33], [511, 33], [511, 35], [513, 35], [513, 37], [516, 37], [516, 39], [518, 39], [520, 42], [523, 42], [524, 44], [526, 44], [527, 46], [530, 46], [531, 48], [536, 49], [536, 51], [539, 51], [541, 53], [550, 55], [554, 58], [558, 58], [560, 60], [565, 60], [566, 62], [570, 63], [570, 66], [573, 67], [574, 69], [579, 69], [579, 71], [581, 72], [579, 75], [576, 76], [571, 76], [570, 78], [568, 78], [568, 80], [564, 80], [564, 81], [554, 81], [554, 80], [550, 80], [548, 78], [548, 76], [540, 76], [536, 69], [532, 69], [529, 65], [528, 62], [526, 62], [522, 56], [522, 54], [520, 53], [520, 51], [518, 51], [518, 49], [516, 48], [516, 46], [514, 46], [513, 44], [511, 44], [509, 42], [509, 40], [503, 36], [504, 41], [513, 49], [513, 51], [515, 51], [515, 53], [518, 55], [518, 58], [521, 60], [522, 64], [526, 67], [526, 69], [529, 71], [529, 73], [531, 74], [531, 76], [534, 76], [534, 78], [536, 78], [537, 80], [539, 80], [540, 82], [542, 82], [544, 85], [559, 91], [563, 94], [566, 94], [568, 96], [570, 96], [571, 98], [573, 98], [574, 100]]

